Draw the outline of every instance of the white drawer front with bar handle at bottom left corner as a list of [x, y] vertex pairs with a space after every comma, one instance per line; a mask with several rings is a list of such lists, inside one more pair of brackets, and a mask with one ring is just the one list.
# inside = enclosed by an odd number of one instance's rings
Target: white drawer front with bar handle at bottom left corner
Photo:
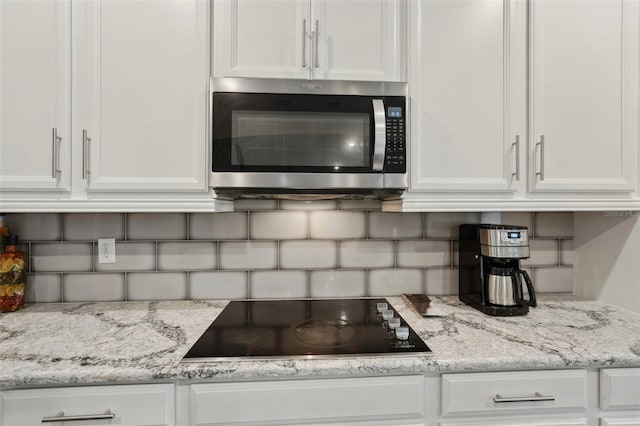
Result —
[[[45, 417], [104, 414], [113, 419], [64, 422], [64, 424], [173, 426], [173, 385], [83, 386], [20, 389], [2, 392], [2, 424], [33, 426]], [[62, 422], [48, 423], [60, 425]]]

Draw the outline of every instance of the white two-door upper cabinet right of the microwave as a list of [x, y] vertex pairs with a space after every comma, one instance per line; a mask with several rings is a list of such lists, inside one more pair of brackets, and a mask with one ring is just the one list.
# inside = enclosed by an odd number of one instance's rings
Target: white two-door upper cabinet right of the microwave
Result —
[[410, 210], [640, 208], [638, 2], [409, 2]]

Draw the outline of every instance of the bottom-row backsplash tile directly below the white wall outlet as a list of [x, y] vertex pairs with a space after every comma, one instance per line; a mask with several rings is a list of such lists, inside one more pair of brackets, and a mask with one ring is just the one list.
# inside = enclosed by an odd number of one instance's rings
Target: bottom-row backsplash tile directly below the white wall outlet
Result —
[[65, 274], [65, 302], [114, 302], [124, 300], [124, 273]]

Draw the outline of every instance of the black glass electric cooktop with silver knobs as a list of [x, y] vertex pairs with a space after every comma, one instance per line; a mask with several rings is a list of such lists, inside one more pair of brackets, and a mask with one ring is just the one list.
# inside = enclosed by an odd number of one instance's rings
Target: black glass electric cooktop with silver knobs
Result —
[[[431, 350], [400, 315], [382, 318], [385, 299], [232, 301], [193, 345], [184, 361], [323, 356], [426, 354]], [[391, 304], [388, 308], [393, 310]], [[390, 312], [386, 312], [389, 316]], [[406, 333], [406, 329], [403, 330]], [[402, 334], [402, 333], [400, 333]]]

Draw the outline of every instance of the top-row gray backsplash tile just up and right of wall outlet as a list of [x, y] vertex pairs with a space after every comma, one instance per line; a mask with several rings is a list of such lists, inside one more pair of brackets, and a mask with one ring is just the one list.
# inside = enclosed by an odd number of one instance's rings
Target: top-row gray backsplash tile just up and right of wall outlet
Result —
[[184, 240], [187, 238], [185, 213], [128, 213], [128, 240]]

